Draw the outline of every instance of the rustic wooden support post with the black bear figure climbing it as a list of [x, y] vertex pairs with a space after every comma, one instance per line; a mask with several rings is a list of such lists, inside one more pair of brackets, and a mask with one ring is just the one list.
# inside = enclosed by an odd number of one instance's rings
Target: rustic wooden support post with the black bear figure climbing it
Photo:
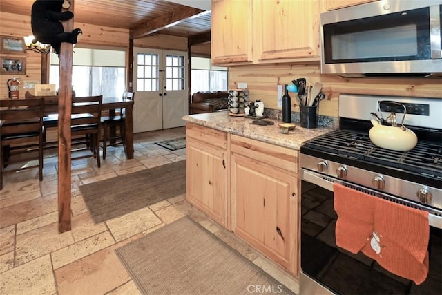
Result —
[[[74, 1], [70, 0], [70, 11], [74, 11]], [[64, 21], [64, 31], [73, 30], [74, 19]], [[72, 113], [72, 63], [73, 45], [62, 43], [60, 59], [60, 88], [58, 101], [58, 231], [70, 231], [70, 182], [71, 182], [71, 134], [70, 114]]]

